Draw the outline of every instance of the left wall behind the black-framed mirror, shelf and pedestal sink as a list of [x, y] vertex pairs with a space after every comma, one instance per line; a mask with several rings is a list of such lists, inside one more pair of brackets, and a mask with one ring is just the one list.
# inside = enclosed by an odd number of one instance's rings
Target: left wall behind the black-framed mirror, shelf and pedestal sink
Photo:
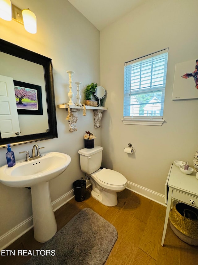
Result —
[[[24, 26], [15, 21], [0, 19], [0, 37], [6, 41], [52, 58], [54, 72], [54, 89], [56, 106], [69, 102], [69, 76], [73, 75], [74, 102], [77, 101], [75, 81], [82, 82], [83, 90], [91, 82], [100, 84], [100, 35], [99, 31], [80, 14], [67, 0], [30, 1], [13, 0], [17, 7], [29, 8], [37, 16], [37, 34], [30, 34]], [[80, 170], [78, 150], [84, 148], [83, 136], [85, 130], [92, 131], [97, 139], [95, 144], [101, 144], [101, 129], [94, 129], [92, 110], [87, 110], [87, 116], [79, 112], [77, 132], [69, 132], [67, 111], [56, 109], [58, 138], [37, 142], [45, 149], [41, 153], [58, 151], [71, 156], [71, 163], [62, 175], [50, 181], [51, 200], [54, 201], [72, 189], [72, 183], [83, 176]], [[13, 146], [16, 160], [25, 158], [20, 151], [31, 152], [31, 144]], [[6, 148], [0, 149], [0, 166], [6, 164]], [[31, 191], [27, 188], [10, 188], [0, 184], [0, 236], [17, 226], [32, 215]], [[67, 213], [66, 213], [67, 214]]]

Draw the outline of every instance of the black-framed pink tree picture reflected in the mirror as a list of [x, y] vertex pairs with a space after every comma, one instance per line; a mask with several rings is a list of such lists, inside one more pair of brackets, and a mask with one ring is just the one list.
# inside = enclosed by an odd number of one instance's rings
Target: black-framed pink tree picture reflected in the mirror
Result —
[[18, 114], [43, 115], [41, 86], [14, 80]]

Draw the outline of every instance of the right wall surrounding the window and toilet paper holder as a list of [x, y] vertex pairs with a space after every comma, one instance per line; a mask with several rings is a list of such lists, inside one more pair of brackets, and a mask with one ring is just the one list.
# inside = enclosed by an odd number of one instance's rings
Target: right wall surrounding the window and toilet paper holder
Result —
[[[103, 166], [163, 195], [170, 164], [188, 160], [192, 166], [198, 149], [198, 100], [171, 100], [175, 64], [198, 59], [197, 8], [197, 0], [145, 1], [100, 32], [101, 85], [108, 93], [101, 128]], [[124, 125], [124, 62], [167, 47], [164, 124]], [[124, 153], [128, 143], [135, 149], [132, 155]]]

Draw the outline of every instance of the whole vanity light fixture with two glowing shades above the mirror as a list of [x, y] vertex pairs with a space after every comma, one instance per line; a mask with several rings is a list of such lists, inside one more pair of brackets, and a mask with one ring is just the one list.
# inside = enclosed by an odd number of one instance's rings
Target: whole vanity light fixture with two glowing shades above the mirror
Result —
[[29, 9], [21, 10], [11, 4], [10, 0], [0, 0], [0, 18], [4, 20], [15, 20], [24, 25], [25, 30], [35, 34], [37, 32], [37, 18]]

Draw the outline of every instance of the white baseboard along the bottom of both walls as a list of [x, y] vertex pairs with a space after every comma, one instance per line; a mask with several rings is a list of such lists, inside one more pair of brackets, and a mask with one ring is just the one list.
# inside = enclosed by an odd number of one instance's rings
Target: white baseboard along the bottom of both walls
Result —
[[[87, 180], [86, 188], [88, 188], [90, 185], [91, 185], [90, 180]], [[164, 203], [165, 196], [157, 192], [154, 192], [153, 190], [146, 189], [142, 186], [139, 186], [129, 181], [127, 181], [127, 189], [166, 206]], [[72, 189], [63, 196], [61, 196], [60, 198], [58, 198], [57, 200], [53, 201], [52, 207], [54, 212], [58, 210], [62, 205], [70, 201], [73, 197], [74, 197], [74, 190]], [[17, 240], [20, 236], [28, 232], [32, 227], [33, 227], [33, 218], [31, 216], [28, 219], [21, 222], [19, 225], [12, 228], [4, 235], [0, 236], [0, 250], [5, 249], [11, 243]]]

